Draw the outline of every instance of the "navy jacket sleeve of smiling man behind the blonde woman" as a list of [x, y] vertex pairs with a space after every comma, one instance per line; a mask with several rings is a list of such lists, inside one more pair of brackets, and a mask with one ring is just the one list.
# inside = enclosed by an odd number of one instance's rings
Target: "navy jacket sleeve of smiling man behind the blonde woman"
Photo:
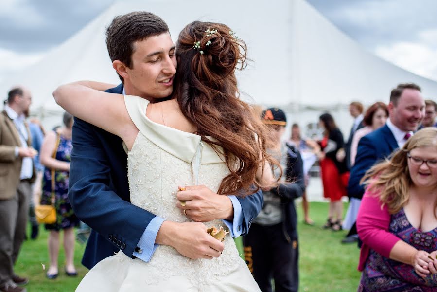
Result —
[[348, 196], [361, 199], [364, 194], [364, 185], [360, 184], [361, 179], [367, 170], [372, 167], [378, 159], [377, 151], [367, 136], [360, 139], [358, 143], [355, 164], [350, 171], [348, 183]]

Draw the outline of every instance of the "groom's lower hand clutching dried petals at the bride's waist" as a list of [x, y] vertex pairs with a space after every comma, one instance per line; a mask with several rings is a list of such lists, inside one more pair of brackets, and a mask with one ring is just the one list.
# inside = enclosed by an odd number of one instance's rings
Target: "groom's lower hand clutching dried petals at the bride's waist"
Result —
[[203, 223], [164, 221], [155, 240], [174, 247], [182, 256], [192, 259], [219, 257], [225, 244], [210, 236]]

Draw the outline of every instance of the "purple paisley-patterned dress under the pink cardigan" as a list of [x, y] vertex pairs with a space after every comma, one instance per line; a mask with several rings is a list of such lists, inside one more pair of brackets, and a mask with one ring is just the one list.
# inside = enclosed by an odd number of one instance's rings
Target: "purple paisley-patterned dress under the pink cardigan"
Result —
[[[392, 215], [389, 232], [418, 250], [428, 253], [437, 250], [437, 227], [428, 232], [414, 228], [405, 216], [403, 208]], [[437, 291], [437, 274], [431, 274], [423, 279], [416, 274], [411, 265], [386, 258], [370, 250], [358, 291]]]

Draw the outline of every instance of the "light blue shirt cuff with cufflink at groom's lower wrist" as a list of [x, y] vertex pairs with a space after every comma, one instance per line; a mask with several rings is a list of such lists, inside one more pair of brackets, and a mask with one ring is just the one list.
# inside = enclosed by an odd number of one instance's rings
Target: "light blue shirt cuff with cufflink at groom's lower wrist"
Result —
[[150, 221], [149, 225], [147, 225], [146, 229], [144, 230], [140, 241], [138, 241], [137, 247], [139, 250], [137, 249], [137, 251], [133, 252], [133, 256], [136, 256], [145, 262], [148, 262], [152, 258], [153, 253], [158, 247], [158, 244], [155, 243], [155, 240], [157, 238], [159, 228], [161, 228], [162, 222], [164, 221], [164, 219], [157, 216]]

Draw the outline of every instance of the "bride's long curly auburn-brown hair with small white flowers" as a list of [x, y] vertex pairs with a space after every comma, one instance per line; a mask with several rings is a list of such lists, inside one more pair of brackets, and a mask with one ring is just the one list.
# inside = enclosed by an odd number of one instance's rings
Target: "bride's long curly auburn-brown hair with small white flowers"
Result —
[[234, 74], [247, 65], [245, 42], [225, 24], [194, 21], [179, 34], [176, 58], [174, 97], [230, 170], [218, 193], [245, 196], [267, 187], [256, 180], [257, 170], [278, 163], [266, 154], [267, 128], [254, 107], [240, 100]]

